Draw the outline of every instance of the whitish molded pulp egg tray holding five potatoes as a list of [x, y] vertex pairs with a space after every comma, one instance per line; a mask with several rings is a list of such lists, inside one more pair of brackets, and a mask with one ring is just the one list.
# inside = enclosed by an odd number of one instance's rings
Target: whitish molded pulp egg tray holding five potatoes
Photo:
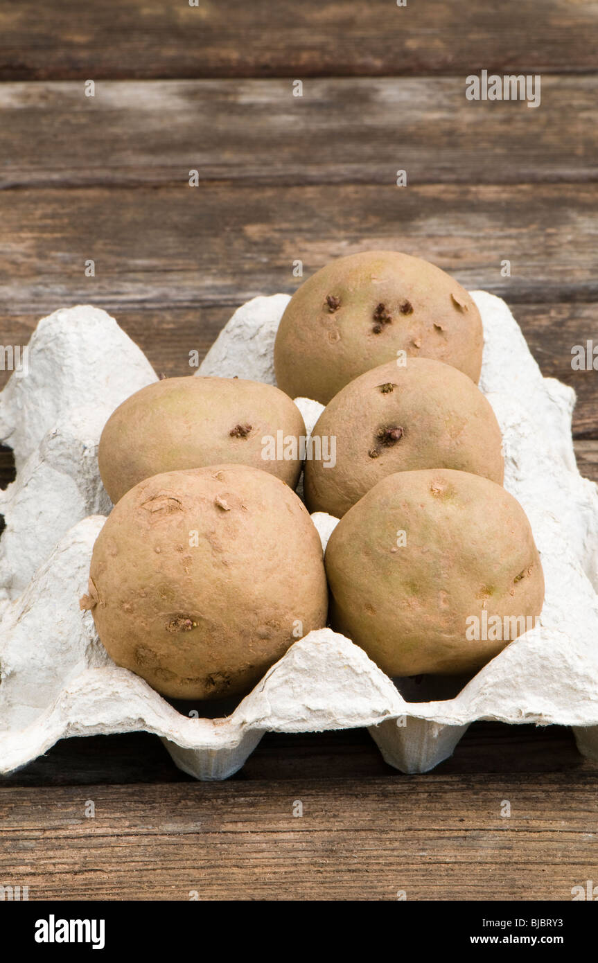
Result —
[[[0, 395], [0, 439], [16, 465], [0, 493], [0, 771], [64, 737], [144, 730], [186, 772], [223, 779], [265, 732], [367, 726], [388, 763], [423, 772], [450, 756], [476, 719], [569, 725], [580, 750], [598, 758], [598, 489], [576, 467], [574, 392], [541, 376], [504, 301], [473, 297], [484, 327], [480, 386], [503, 431], [505, 485], [530, 518], [544, 568], [541, 624], [456, 693], [440, 678], [393, 682], [349, 638], [311, 632], [216, 719], [183, 716], [117, 667], [91, 612], [79, 609], [111, 509], [97, 471], [99, 435], [117, 405], [156, 375], [104, 311], [74, 307], [39, 322], [28, 374], [13, 372]], [[288, 300], [239, 308], [198, 374], [273, 383], [273, 340]], [[309, 430], [322, 405], [298, 404]], [[313, 518], [324, 544], [335, 519]]]

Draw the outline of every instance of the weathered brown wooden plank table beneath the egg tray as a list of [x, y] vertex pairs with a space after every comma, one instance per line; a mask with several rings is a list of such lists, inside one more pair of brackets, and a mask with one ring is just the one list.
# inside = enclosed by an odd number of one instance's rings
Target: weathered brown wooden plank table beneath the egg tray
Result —
[[[403, 249], [507, 299], [543, 373], [575, 387], [598, 479], [598, 376], [571, 368], [574, 345], [598, 344], [595, 4], [2, 0], [0, 37], [4, 345], [91, 302], [156, 371], [188, 374], [240, 303], [296, 289], [294, 261], [307, 275]], [[540, 106], [467, 101], [481, 69], [539, 73]], [[359, 730], [268, 735], [224, 784], [146, 734], [75, 739], [1, 781], [0, 883], [31, 899], [570, 899], [598, 881], [597, 775], [566, 729], [483, 722], [423, 776]]]

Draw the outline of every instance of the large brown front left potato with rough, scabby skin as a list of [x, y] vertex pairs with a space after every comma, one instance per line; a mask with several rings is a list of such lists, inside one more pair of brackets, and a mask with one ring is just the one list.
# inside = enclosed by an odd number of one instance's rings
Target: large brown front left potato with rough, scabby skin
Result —
[[157, 475], [111, 512], [81, 604], [114, 661], [153, 689], [244, 694], [297, 638], [325, 626], [320, 536], [288, 485], [258, 469]]

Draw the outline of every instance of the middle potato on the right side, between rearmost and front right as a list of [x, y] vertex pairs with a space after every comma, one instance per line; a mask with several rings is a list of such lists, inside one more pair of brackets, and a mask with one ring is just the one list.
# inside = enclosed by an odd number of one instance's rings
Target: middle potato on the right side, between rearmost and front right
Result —
[[498, 484], [505, 477], [496, 416], [470, 377], [431, 358], [395, 361], [356, 377], [325, 407], [314, 430], [336, 439], [336, 464], [305, 462], [310, 511], [341, 518], [394, 472], [454, 468]]

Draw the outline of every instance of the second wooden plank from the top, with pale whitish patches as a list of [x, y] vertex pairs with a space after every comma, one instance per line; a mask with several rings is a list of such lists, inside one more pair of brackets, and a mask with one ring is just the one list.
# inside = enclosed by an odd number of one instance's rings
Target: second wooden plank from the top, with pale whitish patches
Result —
[[[580, 181], [598, 172], [598, 76], [546, 77], [539, 109], [463, 78], [0, 86], [0, 188]], [[58, 134], [58, 136], [57, 136]]]

